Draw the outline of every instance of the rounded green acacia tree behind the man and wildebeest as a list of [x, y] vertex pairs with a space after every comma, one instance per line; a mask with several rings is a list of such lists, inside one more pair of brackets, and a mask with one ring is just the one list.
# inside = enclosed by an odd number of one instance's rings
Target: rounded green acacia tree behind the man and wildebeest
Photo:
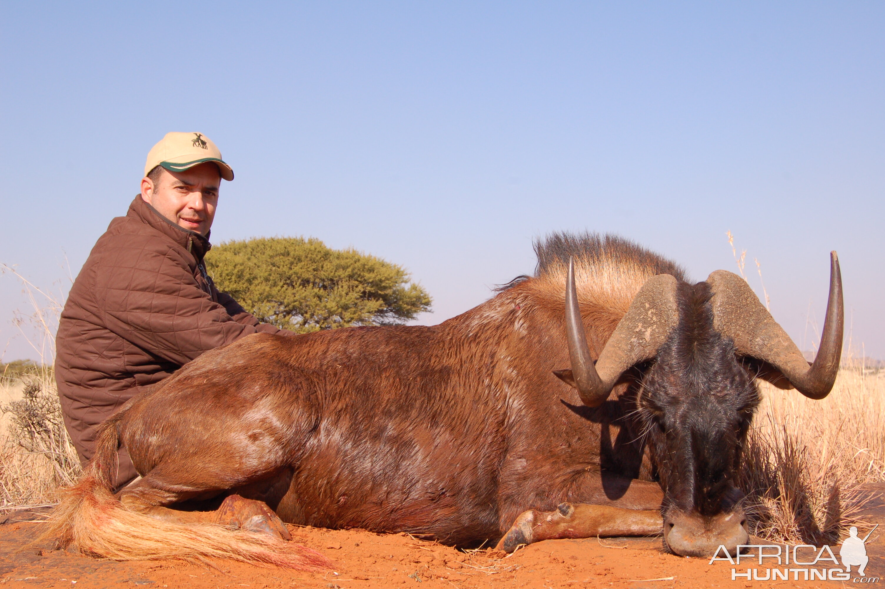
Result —
[[308, 333], [351, 325], [397, 325], [431, 299], [405, 269], [319, 239], [258, 237], [212, 247], [206, 268], [219, 291], [259, 321]]

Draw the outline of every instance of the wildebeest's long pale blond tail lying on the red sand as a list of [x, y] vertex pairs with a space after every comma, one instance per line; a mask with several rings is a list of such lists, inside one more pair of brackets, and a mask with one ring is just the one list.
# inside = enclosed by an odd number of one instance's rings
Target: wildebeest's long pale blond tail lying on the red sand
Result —
[[113, 415], [99, 427], [95, 456], [80, 481], [61, 491], [48, 529], [35, 544], [53, 541], [59, 548], [116, 561], [220, 558], [298, 570], [331, 566], [322, 554], [265, 534], [166, 522], [124, 506], [112, 493], [121, 418]]

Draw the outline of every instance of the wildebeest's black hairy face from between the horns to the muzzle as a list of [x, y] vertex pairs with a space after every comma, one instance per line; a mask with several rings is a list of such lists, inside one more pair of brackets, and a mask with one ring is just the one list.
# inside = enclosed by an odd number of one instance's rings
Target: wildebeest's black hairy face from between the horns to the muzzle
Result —
[[735, 476], [759, 402], [755, 367], [713, 329], [708, 283], [680, 283], [677, 295], [679, 324], [643, 377], [638, 415], [664, 513], [728, 513], [743, 499]]

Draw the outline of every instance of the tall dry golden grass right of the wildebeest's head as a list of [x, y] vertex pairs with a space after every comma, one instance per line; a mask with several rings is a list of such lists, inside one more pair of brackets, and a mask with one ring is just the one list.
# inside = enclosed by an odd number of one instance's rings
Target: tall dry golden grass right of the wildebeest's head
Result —
[[751, 532], [791, 544], [834, 544], [885, 481], [885, 370], [843, 361], [826, 399], [762, 385], [739, 486]]

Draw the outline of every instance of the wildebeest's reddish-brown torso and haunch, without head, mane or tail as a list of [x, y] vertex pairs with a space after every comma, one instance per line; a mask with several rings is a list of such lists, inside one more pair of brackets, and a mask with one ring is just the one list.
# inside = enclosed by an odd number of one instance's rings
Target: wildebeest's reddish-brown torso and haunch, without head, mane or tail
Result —
[[[459, 546], [500, 537], [526, 506], [622, 499], [625, 481], [600, 486], [599, 451], [620, 402], [582, 407], [552, 376], [565, 328], [518, 289], [435, 327], [245, 338], [134, 399], [121, 440], [147, 476], [199, 469], [289, 523]], [[606, 447], [612, 475], [639, 474], [636, 434]]]

